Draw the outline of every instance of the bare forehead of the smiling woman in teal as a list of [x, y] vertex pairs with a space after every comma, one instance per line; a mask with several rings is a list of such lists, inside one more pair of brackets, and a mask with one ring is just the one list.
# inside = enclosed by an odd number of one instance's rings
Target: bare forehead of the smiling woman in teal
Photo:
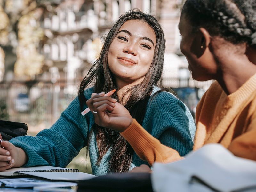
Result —
[[127, 30], [132, 36], [148, 37], [156, 44], [156, 34], [148, 23], [140, 20], [128, 20], [120, 27], [119, 31]]

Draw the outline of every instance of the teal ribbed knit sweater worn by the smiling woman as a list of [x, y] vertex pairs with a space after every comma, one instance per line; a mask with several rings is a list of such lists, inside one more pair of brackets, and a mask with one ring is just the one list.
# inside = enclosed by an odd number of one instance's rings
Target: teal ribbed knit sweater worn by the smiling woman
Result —
[[[154, 88], [154, 92], [159, 88]], [[90, 98], [93, 88], [85, 90], [85, 97]], [[84, 106], [86, 108], [86, 106]], [[22, 148], [28, 155], [24, 167], [50, 165], [66, 167], [87, 145], [87, 132], [94, 124], [91, 112], [81, 115], [79, 100], [76, 97], [60, 118], [50, 129], [39, 132], [35, 137], [20, 136], [10, 140], [15, 146]], [[193, 148], [195, 124], [188, 108], [174, 95], [168, 92], [157, 93], [147, 104], [142, 126], [151, 135], [166, 146], [176, 149], [181, 156]], [[107, 174], [110, 149], [103, 156], [100, 165], [96, 165], [98, 148], [92, 132], [89, 143], [89, 154], [94, 175]], [[147, 162], [134, 153], [130, 169]]]

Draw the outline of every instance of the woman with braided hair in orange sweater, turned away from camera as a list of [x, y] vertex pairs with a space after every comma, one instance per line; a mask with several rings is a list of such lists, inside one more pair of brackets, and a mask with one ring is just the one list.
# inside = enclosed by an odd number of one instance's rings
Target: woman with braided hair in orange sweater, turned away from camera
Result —
[[[216, 80], [196, 108], [194, 150], [220, 143], [236, 156], [256, 160], [256, 1], [187, 0], [179, 29], [180, 48], [192, 77]], [[182, 158], [146, 132], [121, 105], [106, 107], [105, 112], [102, 104], [92, 107], [98, 111], [96, 123], [119, 131], [150, 165]], [[120, 128], [118, 118], [131, 123]]]

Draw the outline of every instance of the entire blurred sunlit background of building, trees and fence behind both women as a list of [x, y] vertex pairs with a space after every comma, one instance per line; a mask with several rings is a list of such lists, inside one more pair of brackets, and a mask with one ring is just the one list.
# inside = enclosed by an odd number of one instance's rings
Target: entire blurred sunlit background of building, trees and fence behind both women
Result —
[[[163, 27], [167, 44], [160, 84], [194, 115], [212, 81], [194, 81], [180, 52], [182, 4], [183, 0], [0, 0], [0, 119], [25, 122], [29, 135], [49, 128], [76, 97], [112, 24], [131, 8], [153, 15]], [[85, 150], [80, 154], [69, 167], [85, 172]]]

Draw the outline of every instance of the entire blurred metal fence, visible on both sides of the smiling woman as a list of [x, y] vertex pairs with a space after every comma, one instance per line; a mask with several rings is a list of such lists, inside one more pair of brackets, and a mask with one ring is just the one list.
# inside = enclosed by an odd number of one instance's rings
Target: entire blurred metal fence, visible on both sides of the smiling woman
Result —
[[[48, 128], [77, 96], [79, 83], [79, 81], [64, 80], [56, 83], [51, 81], [0, 82], [0, 119], [25, 122], [34, 126], [44, 124], [45, 128]], [[190, 78], [169, 78], [161, 81], [162, 85], [174, 88], [176, 95], [193, 113], [200, 99], [197, 94], [198, 88], [208, 88], [211, 83], [212, 81], [197, 82]], [[180, 88], [195, 88], [195, 91]], [[194, 98], [193, 104], [190, 104], [191, 98]]]

